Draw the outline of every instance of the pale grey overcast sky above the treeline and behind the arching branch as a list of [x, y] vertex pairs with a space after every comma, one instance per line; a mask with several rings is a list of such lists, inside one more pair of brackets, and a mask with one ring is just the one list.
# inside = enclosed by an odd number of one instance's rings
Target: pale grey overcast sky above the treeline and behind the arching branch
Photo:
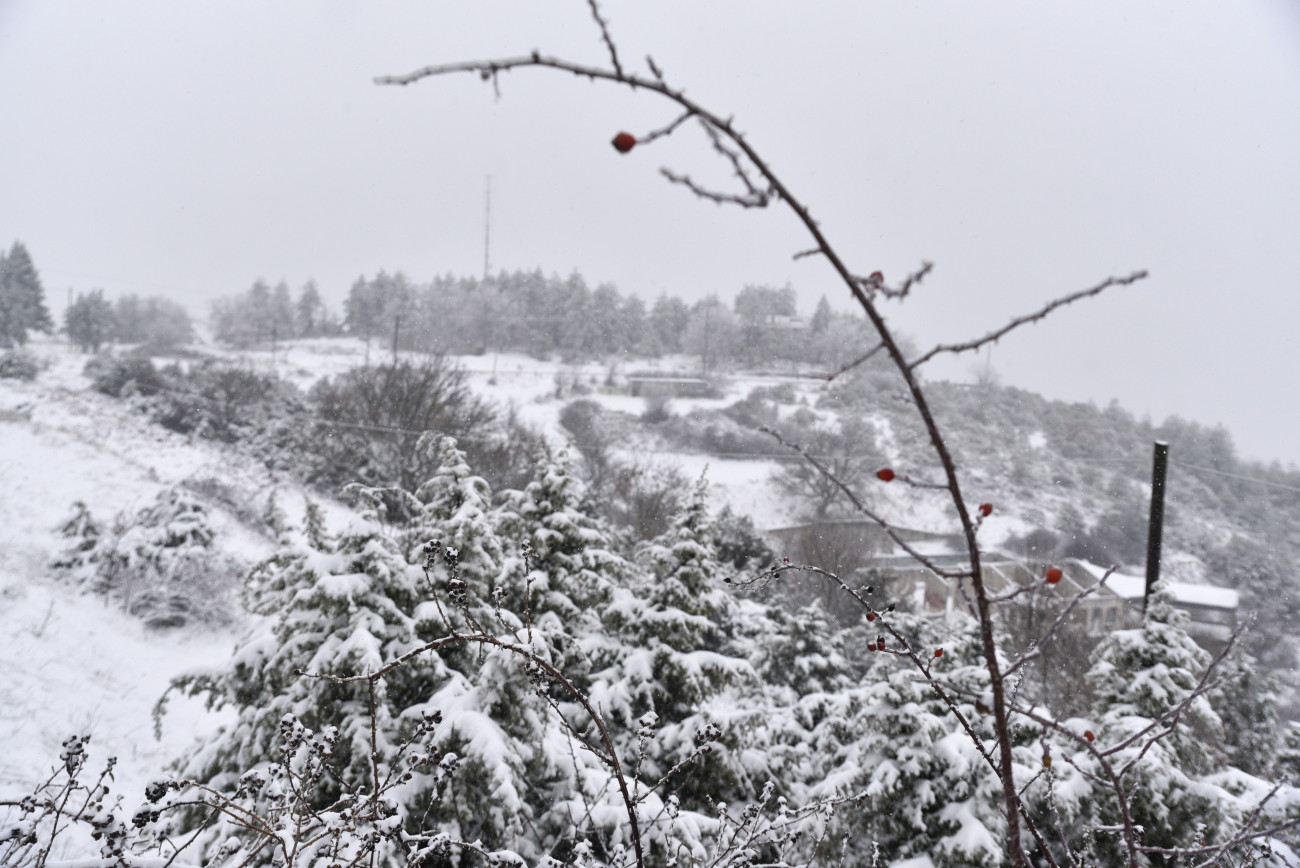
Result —
[[[987, 331], [1110, 274], [1149, 281], [992, 352], [1004, 382], [1225, 424], [1300, 463], [1300, 4], [606, 0], [803, 198], [855, 270], [933, 260], [889, 316], [920, 346]], [[696, 130], [620, 157], [671, 108], [546, 70], [408, 88], [374, 75], [538, 48], [604, 62], [581, 0], [0, 0], [0, 244], [68, 287], [183, 295], [255, 278], [497, 268], [647, 299], [790, 282], [844, 290]], [[846, 352], [849, 350], [846, 348]], [[931, 376], [968, 377], [963, 356]]]

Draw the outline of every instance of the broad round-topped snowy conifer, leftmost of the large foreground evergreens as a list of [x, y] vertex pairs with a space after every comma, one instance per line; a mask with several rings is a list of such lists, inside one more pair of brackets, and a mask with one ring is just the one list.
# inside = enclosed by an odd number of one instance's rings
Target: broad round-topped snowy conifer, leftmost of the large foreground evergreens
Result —
[[[441, 659], [422, 655], [382, 680], [373, 708], [367, 683], [311, 676], [365, 674], [421, 645], [411, 612], [422, 596], [419, 568], [373, 521], [359, 520], [337, 539], [315, 524], [308, 533], [285, 534], [280, 551], [248, 577], [246, 602], [255, 621], [229, 667], [191, 673], [173, 685], [205, 695], [209, 707], [230, 706], [238, 713], [235, 722], [182, 758], [177, 771], [213, 790], [234, 791], [246, 772], [280, 759], [281, 725], [291, 719], [316, 733], [337, 733], [337, 776], [324, 781], [313, 807], [338, 799], [343, 781], [364, 786], [376, 769], [386, 774], [400, 741], [402, 713], [447, 678]], [[190, 821], [198, 823], [198, 816]], [[204, 858], [238, 834], [218, 825], [200, 845]]]

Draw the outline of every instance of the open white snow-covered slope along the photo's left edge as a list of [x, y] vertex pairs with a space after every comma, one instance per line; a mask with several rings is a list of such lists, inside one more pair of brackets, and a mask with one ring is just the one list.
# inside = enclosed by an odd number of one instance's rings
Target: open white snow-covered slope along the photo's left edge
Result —
[[[110, 520], [183, 479], [218, 478], [250, 492], [280, 483], [88, 391], [84, 357], [56, 344], [35, 351], [51, 365], [35, 382], [0, 381], [0, 798], [30, 787], [73, 733], [91, 734], [94, 767], [116, 755], [118, 791], [138, 793], [217, 725], [195, 703], [174, 700], [159, 742], [151, 711], [173, 676], [226, 659], [234, 634], [150, 632], [74, 594], [48, 568], [64, 546], [58, 526], [74, 500]], [[246, 560], [270, 551], [230, 516], [213, 517], [229, 551]]]

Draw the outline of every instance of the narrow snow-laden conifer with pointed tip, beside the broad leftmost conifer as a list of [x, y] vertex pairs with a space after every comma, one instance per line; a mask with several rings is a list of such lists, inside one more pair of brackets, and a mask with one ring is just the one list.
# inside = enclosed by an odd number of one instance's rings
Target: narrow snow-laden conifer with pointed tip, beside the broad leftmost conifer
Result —
[[[526, 616], [507, 604], [519, 596], [517, 587], [507, 589], [520, 578], [502, 533], [508, 512], [493, 508], [488, 482], [473, 474], [455, 439], [426, 437], [420, 448], [438, 459], [438, 470], [416, 492], [425, 505], [403, 534], [412, 554], [422, 552], [434, 595], [415, 611], [421, 637], [482, 632], [545, 657], [545, 645], [528, 643]], [[450, 677], [424, 702], [445, 717], [439, 747], [463, 760], [430, 817], [460, 839], [538, 859], [556, 846], [556, 834], [572, 829], [549, 816], [572, 791], [576, 773], [571, 748], [556, 739], [552, 712], [537, 695], [540, 674], [520, 654], [495, 646], [465, 643], [439, 654]]]

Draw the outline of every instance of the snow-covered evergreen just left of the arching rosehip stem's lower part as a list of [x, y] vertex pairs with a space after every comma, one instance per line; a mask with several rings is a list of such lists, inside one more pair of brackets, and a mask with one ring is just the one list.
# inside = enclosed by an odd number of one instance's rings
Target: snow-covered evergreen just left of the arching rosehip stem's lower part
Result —
[[[991, 745], [992, 720], [974, 699], [988, 689], [976, 624], [888, 617], [916, 654], [931, 660], [935, 681], [953, 689], [967, 721]], [[842, 836], [850, 864], [916, 858], [936, 865], [1005, 864], [997, 776], [878, 624], [858, 633], [855, 651], [870, 659], [858, 686], [810, 693], [793, 713], [774, 715], [774, 726], [790, 728], [774, 733], [774, 763], [789, 769], [783, 777], [802, 782], [800, 799], [859, 797], [837, 817], [836, 837]], [[881, 637], [884, 650], [868, 650]], [[939, 648], [942, 656], [935, 657]]]

